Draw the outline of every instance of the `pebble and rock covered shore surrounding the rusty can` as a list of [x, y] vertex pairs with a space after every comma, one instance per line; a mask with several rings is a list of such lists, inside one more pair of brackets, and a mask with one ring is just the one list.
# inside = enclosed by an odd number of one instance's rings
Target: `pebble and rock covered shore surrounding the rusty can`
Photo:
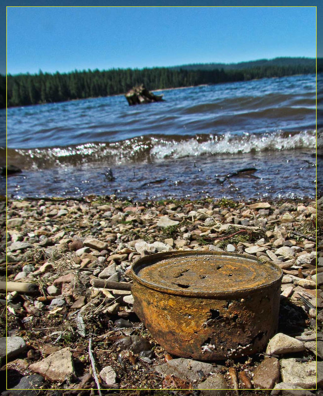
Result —
[[[322, 211], [322, 199], [317, 208], [311, 200], [9, 200], [0, 372], [13, 390], [1, 395], [323, 395]], [[245, 253], [283, 269], [279, 329], [266, 350], [178, 358], [143, 326], [130, 291], [97, 282], [130, 283], [138, 258], [169, 250]]]

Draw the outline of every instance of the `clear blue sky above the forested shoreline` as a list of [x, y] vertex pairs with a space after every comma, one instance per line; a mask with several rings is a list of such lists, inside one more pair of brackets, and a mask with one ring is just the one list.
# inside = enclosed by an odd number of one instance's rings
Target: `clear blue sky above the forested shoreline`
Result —
[[277, 56], [316, 56], [315, 7], [7, 8], [10, 74]]

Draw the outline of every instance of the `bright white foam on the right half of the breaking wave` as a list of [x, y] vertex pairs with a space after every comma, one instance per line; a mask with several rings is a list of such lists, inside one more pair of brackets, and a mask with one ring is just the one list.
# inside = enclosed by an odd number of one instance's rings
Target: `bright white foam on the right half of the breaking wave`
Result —
[[297, 148], [315, 148], [315, 131], [302, 131], [295, 135], [282, 134], [248, 134], [241, 136], [230, 132], [218, 136], [210, 135], [206, 142], [199, 142], [197, 138], [176, 142], [163, 141], [151, 149], [151, 156], [156, 159], [182, 158], [186, 156], [199, 156], [205, 154], [236, 154], [252, 151], [266, 150], [291, 150]]

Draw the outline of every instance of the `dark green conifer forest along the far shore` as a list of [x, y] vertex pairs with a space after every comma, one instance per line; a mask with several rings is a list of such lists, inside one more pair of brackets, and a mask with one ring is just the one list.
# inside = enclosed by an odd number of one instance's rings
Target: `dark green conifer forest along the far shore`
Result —
[[[255, 66], [241, 70], [187, 70], [169, 67], [144, 69], [75, 70], [70, 73], [7, 75], [7, 106], [60, 102], [72, 99], [105, 97], [126, 93], [144, 84], [150, 91], [248, 81], [315, 73], [313, 65]], [[0, 76], [0, 106], [5, 107], [5, 77]]]

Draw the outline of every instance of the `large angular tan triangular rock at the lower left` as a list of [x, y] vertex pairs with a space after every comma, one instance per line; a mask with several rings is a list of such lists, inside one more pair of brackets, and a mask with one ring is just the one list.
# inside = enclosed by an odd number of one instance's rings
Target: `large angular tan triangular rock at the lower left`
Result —
[[69, 348], [60, 349], [39, 362], [31, 364], [29, 368], [50, 381], [63, 382], [75, 373]]

